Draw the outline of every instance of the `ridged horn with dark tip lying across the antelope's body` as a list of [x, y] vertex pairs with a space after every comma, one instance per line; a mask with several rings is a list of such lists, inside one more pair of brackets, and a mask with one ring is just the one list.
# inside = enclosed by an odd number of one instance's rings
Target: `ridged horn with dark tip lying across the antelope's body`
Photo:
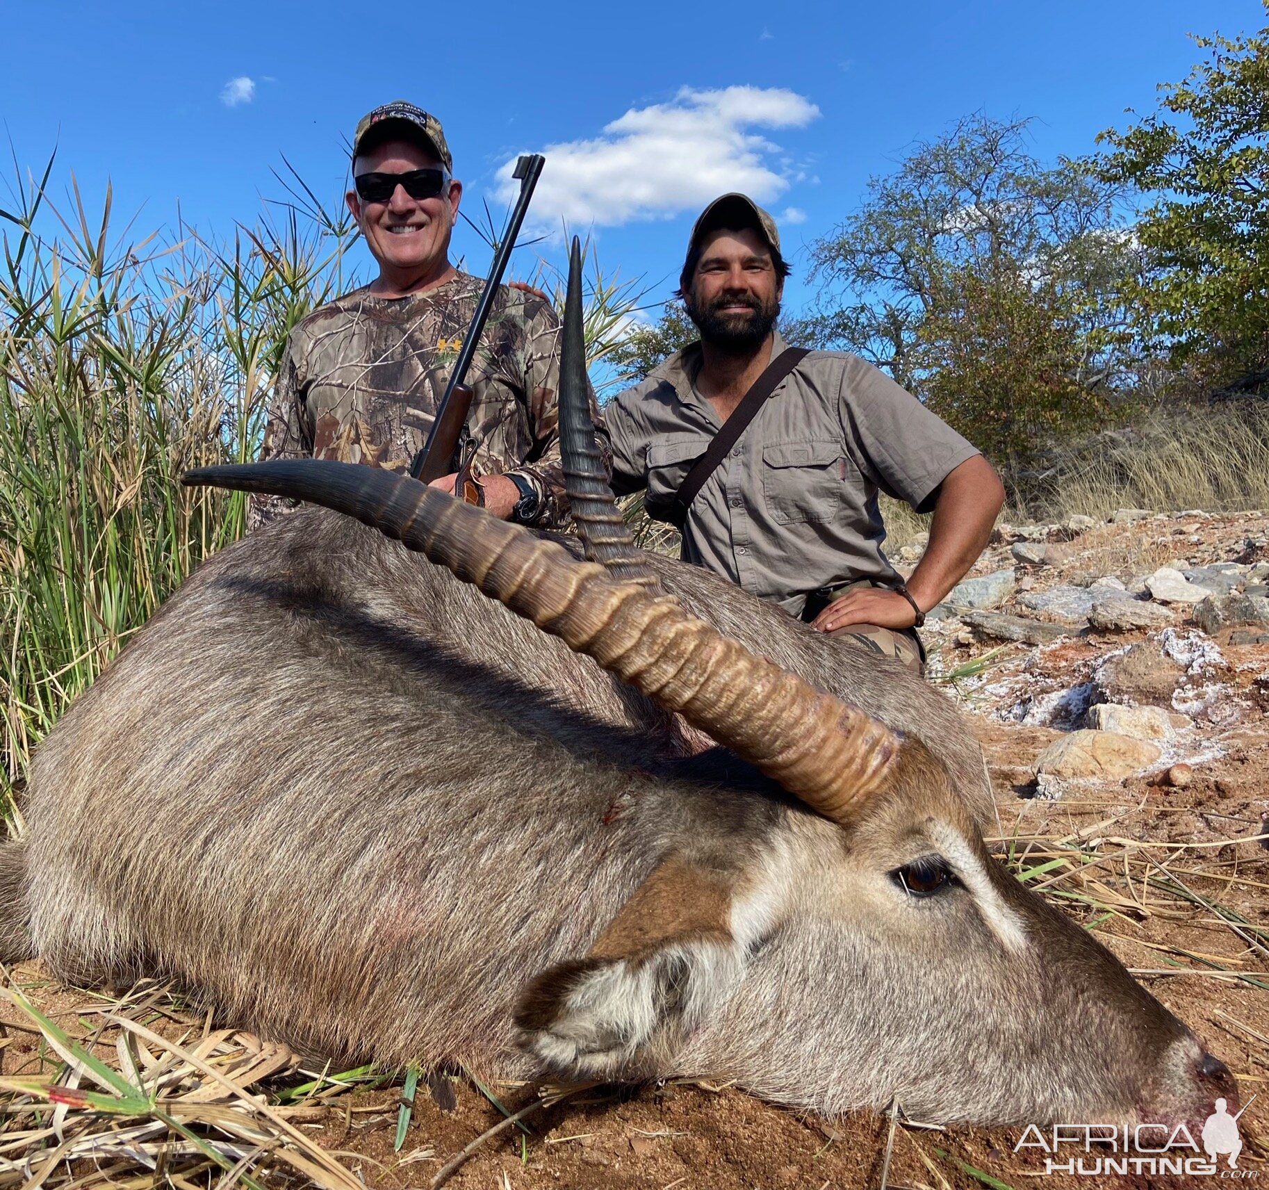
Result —
[[726, 639], [678, 600], [615, 582], [562, 546], [407, 477], [294, 459], [201, 467], [181, 482], [308, 500], [400, 539], [679, 712], [829, 818], [845, 821], [898, 752], [883, 723]]

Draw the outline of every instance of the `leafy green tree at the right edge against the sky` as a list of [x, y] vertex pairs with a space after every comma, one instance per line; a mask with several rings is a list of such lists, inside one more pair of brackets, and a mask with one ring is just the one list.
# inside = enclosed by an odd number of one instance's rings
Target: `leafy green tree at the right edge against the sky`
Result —
[[1195, 43], [1208, 61], [1157, 112], [1101, 133], [1100, 171], [1154, 195], [1136, 226], [1143, 335], [1204, 383], [1250, 388], [1269, 382], [1269, 28]]

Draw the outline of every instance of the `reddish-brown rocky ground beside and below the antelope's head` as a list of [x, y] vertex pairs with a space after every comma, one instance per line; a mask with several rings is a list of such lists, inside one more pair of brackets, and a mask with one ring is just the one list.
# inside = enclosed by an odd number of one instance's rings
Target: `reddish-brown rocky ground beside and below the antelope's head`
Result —
[[[900, 561], [919, 554], [920, 544], [906, 547]], [[1244, 1181], [1263, 1182], [1269, 516], [1123, 510], [1108, 523], [1000, 526], [925, 638], [931, 680], [962, 704], [986, 749], [1001, 818], [997, 854], [1095, 930], [1231, 1067], [1250, 1104], [1240, 1166], [1255, 1177]], [[14, 977], [55, 1019], [85, 1033], [100, 1011], [91, 997], [49, 984], [38, 965]], [[164, 1011], [173, 1033], [180, 1014]], [[34, 1072], [49, 1057], [47, 1035], [0, 1006], [0, 1075]], [[391, 1187], [428, 1185], [499, 1124], [490, 1096], [510, 1111], [532, 1108], [524, 1130], [504, 1125], [476, 1144], [450, 1186], [1019, 1190], [1218, 1181], [1046, 1175], [1043, 1154], [1015, 1153], [1018, 1128], [944, 1132], [868, 1114], [825, 1121], [692, 1082], [591, 1089], [536, 1108], [536, 1089], [440, 1080], [433, 1094], [420, 1087], [397, 1154], [401, 1094], [398, 1083], [327, 1087], [299, 1109], [294, 1127], [341, 1154], [357, 1179]], [[15, 1162], [9, 1174], [0, 1163], [0, 1187], [39, 1185], [47, 1154], [30, 1162], [32, 1152], [6, 1152], [0, 1135], [0, 1161]], [[88, 1166], [80, 1162], [77, 1176]], [[131, 1184], [146, 1185], [135, 1168]], [[156, 1167], [151, 1181], [162, 1179]], [[1228, 1180], [1226, 1171], [1220, 1182]], [[44, 1184], [55, 1182], [67, 1184]]]

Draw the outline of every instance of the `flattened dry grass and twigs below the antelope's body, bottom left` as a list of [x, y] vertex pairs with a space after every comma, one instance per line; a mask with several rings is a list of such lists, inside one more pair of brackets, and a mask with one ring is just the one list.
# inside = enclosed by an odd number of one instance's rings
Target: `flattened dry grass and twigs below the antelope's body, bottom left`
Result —
[[[0, 1190], [157, 1184], [364, 1190], [359, 1163], [377, 1162], [365, 1153], [329, 1151], [310, 1132], [343, 1115], [346, 1133], [353, 1113], [390, 1108], [367, 1109], [354, 1096], [400, 1082], [398, 1076], [369, 1067], [334, 1076], [306, 1071], [286, 1044], [213, 1029], [209, 1017], [190, 1016], [170, 988], [148, 981], [112, 1000], [46, 981], [28, 979], [23, 987], [0, 967], [0, 997], [14, 1010], [0, 1015]], [[79, 1019], [80, 1031], [57, 1023], [67, 1015]], [[5, 1062], [19, 1034], [39, 1044], [25, 1058], [10, 1053]], [[537, 1099], [511, 1114], [476, 1085], [504, 1118], [444, 1165], [433, 1148], [416, 1147], [395, 1158], [397, 1166], [440, 1165], [430, 1179], [439, 1187], [523, 1118], [595, 1086], [542, 1085]], [[407, 1076], [397, 1151], [414, 1094]]]

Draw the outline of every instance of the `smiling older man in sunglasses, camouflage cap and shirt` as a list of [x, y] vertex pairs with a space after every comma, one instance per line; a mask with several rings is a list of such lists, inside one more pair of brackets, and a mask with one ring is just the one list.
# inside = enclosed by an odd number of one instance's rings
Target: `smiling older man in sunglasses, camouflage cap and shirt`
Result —
[[[269, 409], [263, 459], [320, 458], [405, 471], [437, 406], [482, 282], [449, 263], [462, 183], [439, 121], [411, 103], [357, 126], [348, 207], [379, 275], [302, 318]], [[567, 513], [556, 391], [560, 321], [536, 292], [500, 287], [467, 383], [476, 473], [495, 515], [551, 526]], [[593, 416], [607, 443], [599, 411]], [[453, 490], [454, 477], [435, 481]], [[286, 511], [254, 497], [251, 526]]]

